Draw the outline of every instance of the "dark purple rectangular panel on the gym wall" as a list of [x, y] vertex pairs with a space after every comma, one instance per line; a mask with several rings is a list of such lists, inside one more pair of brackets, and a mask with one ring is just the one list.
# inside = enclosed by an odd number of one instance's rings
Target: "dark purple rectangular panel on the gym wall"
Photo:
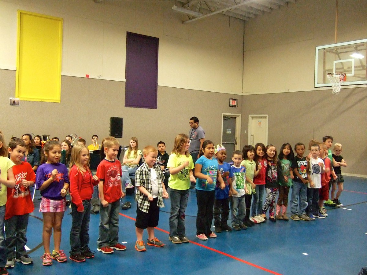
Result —
[[125, 107], [157, 109], [158, 40], [127, 32]]

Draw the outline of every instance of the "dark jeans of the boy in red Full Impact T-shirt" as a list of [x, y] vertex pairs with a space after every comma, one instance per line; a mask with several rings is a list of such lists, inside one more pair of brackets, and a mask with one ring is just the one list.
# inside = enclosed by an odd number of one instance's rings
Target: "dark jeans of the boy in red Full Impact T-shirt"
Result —
[[[19, 258], [26, 254], [25, 244], [27, 243], [27, 226], [29, 214], [15, 215], [5, 220], [5, 244], [6, 256], [8, 259]], [[14, 247], [17, 249], [15, 254]]]

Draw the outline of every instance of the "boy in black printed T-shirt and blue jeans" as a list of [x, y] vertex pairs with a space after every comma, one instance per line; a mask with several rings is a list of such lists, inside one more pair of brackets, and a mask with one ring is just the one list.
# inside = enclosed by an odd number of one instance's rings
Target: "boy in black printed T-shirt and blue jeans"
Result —
[[[305, 153], [305, 144], [298, 142], [294, 146], [297, 155], [294, 156], [291, 168], [293, 169], [294, 179], [291, 197], [291, 219], [294, 221], [309, 221], [306, 215], [307, 208], [307, 160], [303, 156]], [[299, 203], [298, 203], [299, 202]], [[297, 207], [299, 212], [297, 214]]]

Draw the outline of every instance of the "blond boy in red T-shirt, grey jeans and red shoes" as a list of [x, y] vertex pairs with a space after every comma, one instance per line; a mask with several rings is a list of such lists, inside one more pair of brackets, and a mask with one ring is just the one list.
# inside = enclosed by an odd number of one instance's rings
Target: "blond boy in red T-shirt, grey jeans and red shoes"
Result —
[[119, 141], [115, 137], [106, 137], [103, 150], [106, 158], [97, 167], [99, 178], [99, 237], [97, 250], [113, 253], [113, 249], [125, 250], [119, 243], [120, 198], [125, 197], [121, 185], [121, 163], [116, 159], [119, 153]]

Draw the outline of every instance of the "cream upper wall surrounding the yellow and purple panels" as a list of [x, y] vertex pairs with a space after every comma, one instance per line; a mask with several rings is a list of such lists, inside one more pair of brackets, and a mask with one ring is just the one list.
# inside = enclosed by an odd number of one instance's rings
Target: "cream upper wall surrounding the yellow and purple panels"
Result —
[[126, 32], [159, 38], [158, 85], [241, 94], [243, 21], [187, 25], [173, 2], [0, 0], [0, 69], [16, 69], [17, 10], [63, 18], [62, 75], [125, 81]]

